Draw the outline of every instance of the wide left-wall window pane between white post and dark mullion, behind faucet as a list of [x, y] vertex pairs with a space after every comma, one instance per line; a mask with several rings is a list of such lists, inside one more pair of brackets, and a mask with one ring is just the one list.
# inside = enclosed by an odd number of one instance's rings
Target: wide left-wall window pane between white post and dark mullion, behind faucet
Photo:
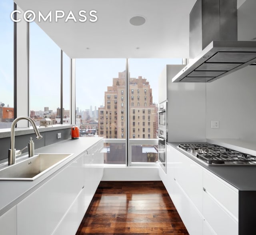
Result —
[[30, 117], [40, 125], [60, 123], [60, 48], [35, 23], [30, 23]]

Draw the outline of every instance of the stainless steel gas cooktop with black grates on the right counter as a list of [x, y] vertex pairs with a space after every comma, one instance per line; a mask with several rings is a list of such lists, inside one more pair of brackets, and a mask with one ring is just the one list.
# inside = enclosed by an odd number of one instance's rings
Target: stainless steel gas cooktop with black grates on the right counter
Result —
[[256, 165], [256, 156], [210, 143], [180, 143], [182, 151], [206, 165]]

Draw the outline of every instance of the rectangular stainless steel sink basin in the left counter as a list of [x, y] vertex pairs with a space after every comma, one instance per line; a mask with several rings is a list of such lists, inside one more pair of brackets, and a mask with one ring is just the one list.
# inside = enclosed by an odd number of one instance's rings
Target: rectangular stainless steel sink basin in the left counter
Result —
[[72, 155], [70, 153], [38, 153], [33, 157], [24, 156], [14, 165], [1, 165], [0, 180], [32, 181]]

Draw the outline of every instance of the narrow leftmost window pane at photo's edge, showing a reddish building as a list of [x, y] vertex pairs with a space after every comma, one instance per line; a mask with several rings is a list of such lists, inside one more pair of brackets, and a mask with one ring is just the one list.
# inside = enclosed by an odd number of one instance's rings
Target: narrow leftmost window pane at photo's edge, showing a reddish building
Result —
[[14, 3], [0, 1], [0, 128], [11, 126], [14, 119], [14, 22], [10, 13]]

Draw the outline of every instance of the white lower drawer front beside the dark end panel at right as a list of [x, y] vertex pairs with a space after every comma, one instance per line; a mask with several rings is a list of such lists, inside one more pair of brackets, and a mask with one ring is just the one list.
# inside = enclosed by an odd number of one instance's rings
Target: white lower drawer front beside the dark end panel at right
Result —
[[238, 221], [235, 221], [206, 191], [203, 193], [203, 214], [218, 235], [238, 235]]

